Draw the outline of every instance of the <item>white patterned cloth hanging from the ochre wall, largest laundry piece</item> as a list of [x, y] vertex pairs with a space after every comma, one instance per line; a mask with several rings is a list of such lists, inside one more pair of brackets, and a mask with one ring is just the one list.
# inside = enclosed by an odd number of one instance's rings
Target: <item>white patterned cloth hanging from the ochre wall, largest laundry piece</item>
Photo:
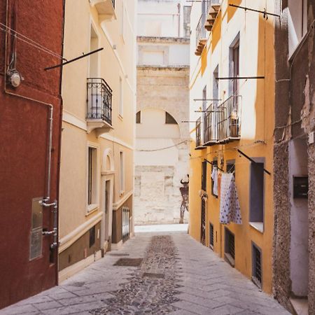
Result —
[[241, 209], [235, 186], [233, 174], [222, 174], [221, 179], [221, 202], [220, 202], [220, 223], [241, 224]]

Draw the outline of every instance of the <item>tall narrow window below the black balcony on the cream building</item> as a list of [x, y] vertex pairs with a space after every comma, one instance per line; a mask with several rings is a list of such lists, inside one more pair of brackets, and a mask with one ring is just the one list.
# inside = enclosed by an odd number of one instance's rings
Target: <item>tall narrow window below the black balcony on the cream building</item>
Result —
[[97, 148], [88, 148], [87, 204], [97, 204]]

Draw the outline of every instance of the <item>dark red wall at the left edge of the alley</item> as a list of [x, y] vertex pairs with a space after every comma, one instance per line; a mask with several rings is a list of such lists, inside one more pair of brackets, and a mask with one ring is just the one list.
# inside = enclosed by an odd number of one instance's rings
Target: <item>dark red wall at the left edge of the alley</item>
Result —
[[[9, 0], [10, 27], [49, 50], [62, 54], [63, 0]], [[0, 22], [6, 23], [6, 0], [0, 1]], [[4, 92], [5, 33], [0, 25], [0, 309], [57, 281], [57, 263], [50, 263], [52, 237], [43, 237], [43, 258], [29, 262], [31, 200], [45, 196], [47, 179], [48, 107]], [[12, 51], [9, 38], [7, 52]], [[29, 39], [27, 39], [29, 41]], [[57, 198], [61, 69], [58, 57], [18, 39], [16, 69], [24, 77], [10, 92], [54, 107], [51, 197]], [[43, 209], [43, 228], [51, 230], [51, 209]], [[55, 255], [56, 255], [55, 250]], [[56, 260], [55, 260], [56, 261]]]

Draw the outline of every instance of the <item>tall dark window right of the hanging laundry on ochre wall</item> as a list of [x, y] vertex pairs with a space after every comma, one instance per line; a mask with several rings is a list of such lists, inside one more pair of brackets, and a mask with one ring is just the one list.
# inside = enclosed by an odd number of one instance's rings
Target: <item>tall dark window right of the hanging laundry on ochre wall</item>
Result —
[[249, 221], [251, 223], [260, 223], [255, 226], [258, 230], [263, 230], [264, 222], [264, 195], [265, 195], [265, 177], [264, 163], [251, 162], [251, 181], [250, 181], [250, 213]]

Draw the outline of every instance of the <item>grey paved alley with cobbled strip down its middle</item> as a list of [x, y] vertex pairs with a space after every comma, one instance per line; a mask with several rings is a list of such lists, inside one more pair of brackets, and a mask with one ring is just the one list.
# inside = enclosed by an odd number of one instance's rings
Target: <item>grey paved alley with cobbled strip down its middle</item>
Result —
[[185, 232], [155, 232], [0, 314], [289, 313]]

